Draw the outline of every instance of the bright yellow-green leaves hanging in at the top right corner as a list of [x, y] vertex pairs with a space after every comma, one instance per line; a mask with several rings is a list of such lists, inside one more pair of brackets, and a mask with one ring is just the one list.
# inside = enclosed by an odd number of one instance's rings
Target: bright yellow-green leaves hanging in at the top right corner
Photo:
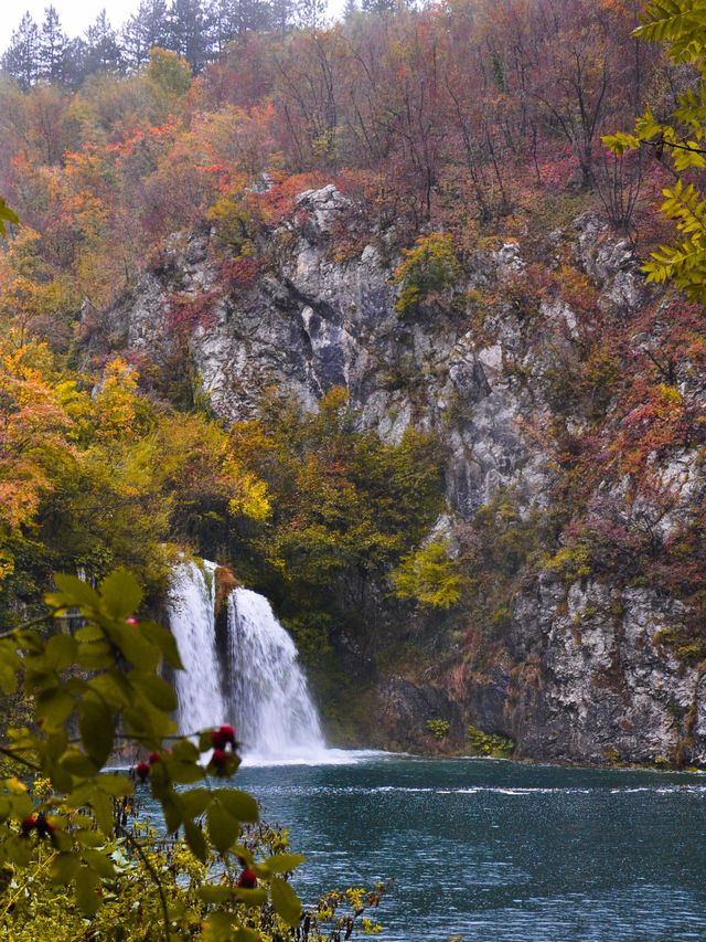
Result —
[[[648, 3], [635, 35], [649, 42], [663, 42], [677, 63], [696, 66], [700, 81], [678, 95], [678, 107], [668, 121], [659, 121], [650, 108], [635, 121], [634, 134], [607, 135], [605, 144], [622, 155], [641, 145], [654, 148], [657, 157], [668, 157], [677, 174], [706, 167], [706, 44], [703, 0], [657, 0]], [[649, 282], [667, 281], [682, 288], [692, 300], [706, 300], [706, 198], [683, 177], [662, 191], [666, 198], [661, 212], [676, 224], [684, 236], [672, 245], [661, 245], [643, 266]]]

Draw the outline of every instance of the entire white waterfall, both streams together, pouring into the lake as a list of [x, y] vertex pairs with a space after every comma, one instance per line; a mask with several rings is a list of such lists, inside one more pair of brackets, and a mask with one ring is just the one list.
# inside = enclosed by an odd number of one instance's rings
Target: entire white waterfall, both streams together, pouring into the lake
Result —
[[375, 754], [327, 749], [295, 643], [264, 595], [231, 593], [218, 649], [215, 570], [204, 560], [172, 571], [167, 612], [184, 665], [174, 677], [180, 731], [232, 723], [245, 765], [350, 763]]

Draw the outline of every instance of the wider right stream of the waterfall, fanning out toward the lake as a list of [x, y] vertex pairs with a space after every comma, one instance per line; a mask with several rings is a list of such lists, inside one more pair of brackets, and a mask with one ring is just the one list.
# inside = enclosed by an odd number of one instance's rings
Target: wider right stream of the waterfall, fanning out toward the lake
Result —
[[325, 743], [297, 648], [257, 592], [231, 594], [228, 647], [233, 716], [246, 756], [320, 761]]

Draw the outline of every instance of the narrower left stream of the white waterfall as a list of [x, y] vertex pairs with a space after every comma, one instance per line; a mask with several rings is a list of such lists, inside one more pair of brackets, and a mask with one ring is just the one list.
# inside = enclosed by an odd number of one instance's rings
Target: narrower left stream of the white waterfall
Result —
[[220, 726], [227, 717], [215, 635], [216, 564], [180, 562], [172, 570], [167, 612], [184, 670], [176, 670], [179, 730]]

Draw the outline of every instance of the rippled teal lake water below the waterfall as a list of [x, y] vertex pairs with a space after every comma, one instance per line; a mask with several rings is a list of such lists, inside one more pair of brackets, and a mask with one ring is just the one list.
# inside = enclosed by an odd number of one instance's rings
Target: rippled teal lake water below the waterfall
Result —
[[706, 940], [704, 776], [377, 755], [235, 782], [307, 854], [304, 900], [394, 877], [385, 942]]

